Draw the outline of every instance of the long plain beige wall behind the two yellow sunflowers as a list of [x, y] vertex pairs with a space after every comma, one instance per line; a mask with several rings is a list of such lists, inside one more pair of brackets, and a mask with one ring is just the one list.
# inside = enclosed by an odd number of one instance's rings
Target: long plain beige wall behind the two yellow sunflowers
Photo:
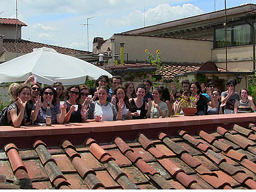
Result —
[[[210, 41], [123, 35], [113, 35], [112, 38], [115, 38], [116, 55], [120, 53], [119, 43], [125, 43], [124, 52], [129, 53], [129, 61], [148, 60], [145, 49], [148, 49], [154, 57], [156, 50], [160, 49], [162, 61], [166, 62], [205, 63], [211, 59], [212, 42]], [[112, 49], [110, 40], [101, 46], [98, 53], [104, 52], [108, 48]], [[126, 55], [124, 59], [126, 61]]]

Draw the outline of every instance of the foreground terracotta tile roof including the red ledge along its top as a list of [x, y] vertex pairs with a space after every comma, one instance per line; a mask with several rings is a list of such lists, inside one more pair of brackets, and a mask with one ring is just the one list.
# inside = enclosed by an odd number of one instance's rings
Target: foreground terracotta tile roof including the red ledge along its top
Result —
[[1, 127], [1, 189], [256, 189], [256, 114]]

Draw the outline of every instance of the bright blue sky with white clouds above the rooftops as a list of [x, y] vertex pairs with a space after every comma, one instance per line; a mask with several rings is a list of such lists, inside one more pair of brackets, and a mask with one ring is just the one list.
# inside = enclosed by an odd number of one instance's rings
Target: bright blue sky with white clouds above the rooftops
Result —
[[[226, 0], [227, 8], [256, 0]], [[15, 0], [1, 0], [1, 18], [15, 18]], [[215, 5], [215, 6], [214, 6]], [[224, 9], [224, 0], [18, 0], [22, 39], [92, 51], [94, 37]], [[89, 20], [87, 48], [86, 18]]]

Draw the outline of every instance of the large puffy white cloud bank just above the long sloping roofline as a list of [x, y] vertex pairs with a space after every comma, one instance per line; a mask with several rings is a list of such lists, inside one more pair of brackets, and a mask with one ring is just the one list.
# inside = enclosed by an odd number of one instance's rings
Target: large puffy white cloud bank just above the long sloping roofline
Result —
[[[176, 20], [179, 18], [185, 18], [189, 16], [202, 14], [203, 11], [192, 4], [183, 4], [182, 7], [170, 6], [170, 4], [160, 4], [154, 8], [146, 11], [146, 26], [152, 24], [158, 24], [160, 22], [168, 22], [170, 20]], [[121, 18], [107, 18], [106, 26], [141, 26], [144, 20], [144, 13], [139, 10], [135, 10], [129, 15], [122, 16]]]

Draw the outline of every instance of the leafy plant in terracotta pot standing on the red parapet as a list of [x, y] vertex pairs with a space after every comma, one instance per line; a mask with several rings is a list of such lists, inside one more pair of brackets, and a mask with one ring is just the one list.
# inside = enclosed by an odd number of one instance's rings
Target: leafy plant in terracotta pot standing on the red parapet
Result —
[[193, 96], [182, 96], [180, 102], [185, 116], [193, 116], [197, 113], [197, 98]]

